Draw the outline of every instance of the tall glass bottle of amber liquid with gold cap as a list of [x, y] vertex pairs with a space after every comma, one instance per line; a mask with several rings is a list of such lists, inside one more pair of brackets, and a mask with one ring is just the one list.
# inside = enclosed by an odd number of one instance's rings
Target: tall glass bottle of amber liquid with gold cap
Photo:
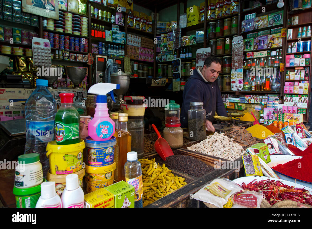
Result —
[[115, 145], [114, 159], [116, 169], [114, 181], [125, 181], [124, 164], [127, 162], [127, 153], [131, 151], [131, 134], [127, 129], [128, 114], [120, 113], [118, 116], [118, 129]]

